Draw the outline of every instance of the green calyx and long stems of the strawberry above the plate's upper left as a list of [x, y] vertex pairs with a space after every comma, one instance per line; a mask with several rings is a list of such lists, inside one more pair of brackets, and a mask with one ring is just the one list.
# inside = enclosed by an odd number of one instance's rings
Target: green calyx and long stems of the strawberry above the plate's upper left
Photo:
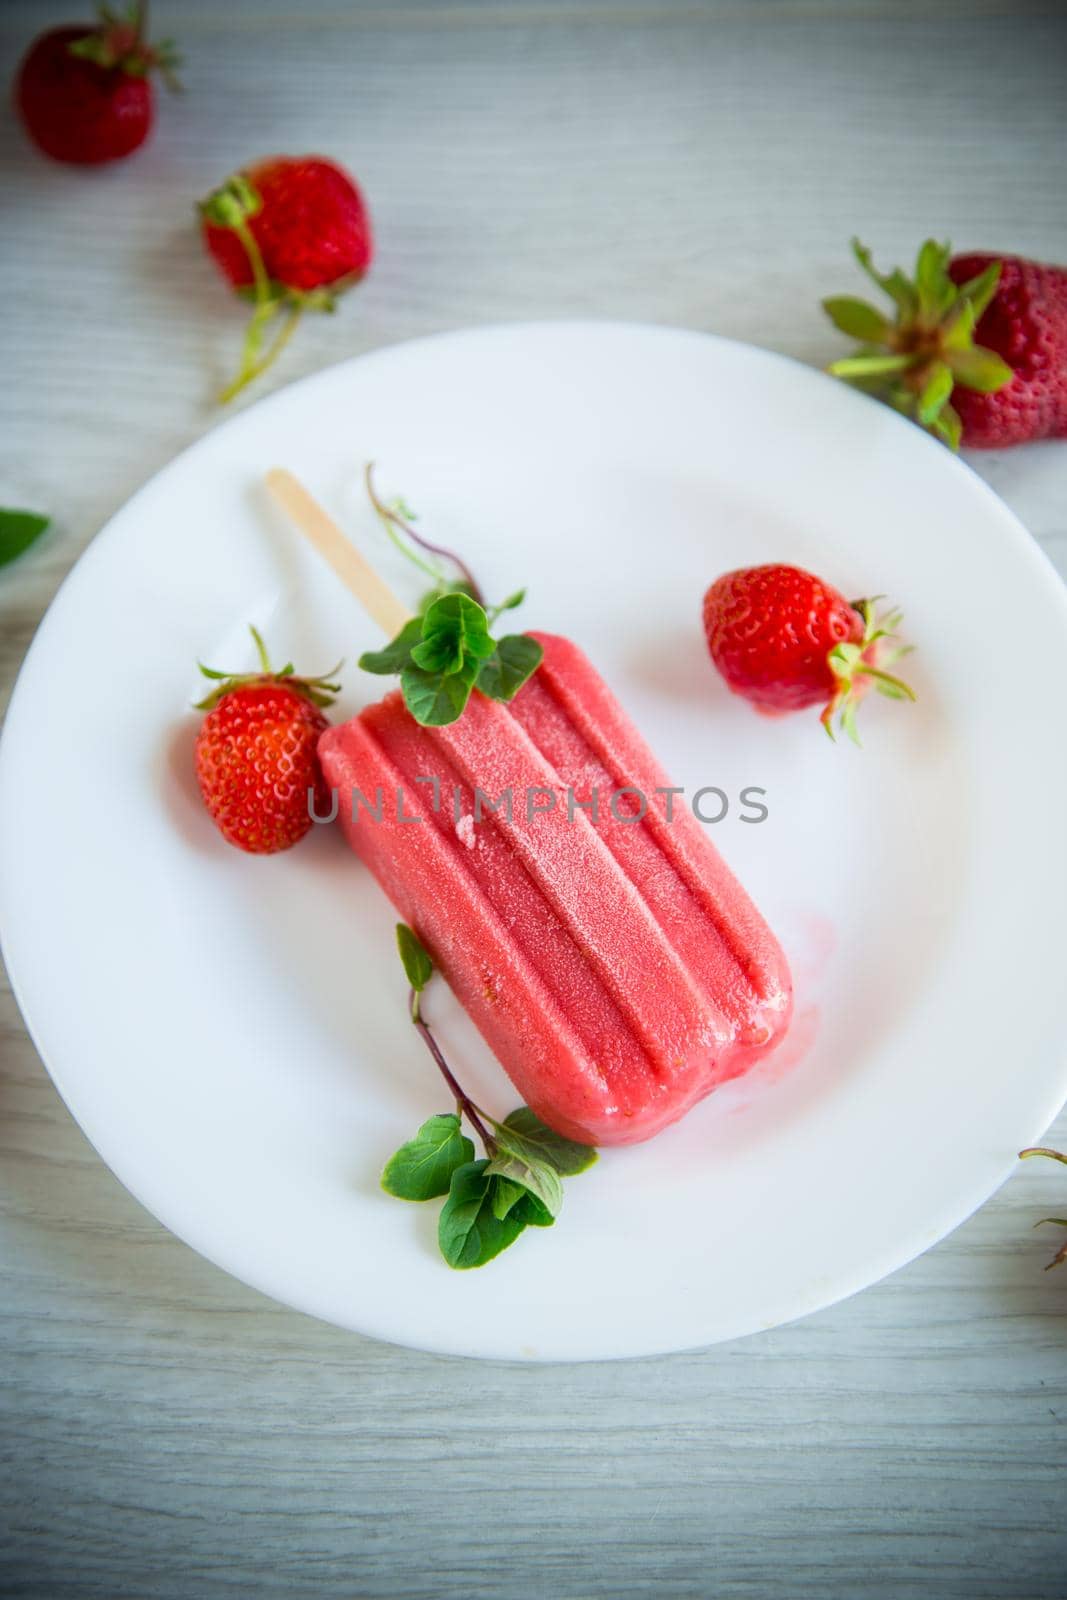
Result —
[[[211, 227], [227, 227], [237, 234], [251, 283], [240, 285], [237, 293], [253, 304], [253, 314], [245, 331], [245, 346], [237, 376], [219, 395], [219, 405], [226, 405], [246, 389], [256, 378], [278, 358], [285, 346], [296, 333], [306, 310], [334, 312], [338, 296], [358, 283], [362, 274], [350, 272], [333, 283], [318, 285], [314, 290], [296, 290], [288, 283], [272, 278], [262, 259], [262, 251], [248, 222], [262, 210], [262, 195], [245, 173], [234, 173], [206, 200], [198, 205], [200, 216]], [[275, 317], [282, 315], [282, 323], [274, 339], [264, 349], [264, 334]]]

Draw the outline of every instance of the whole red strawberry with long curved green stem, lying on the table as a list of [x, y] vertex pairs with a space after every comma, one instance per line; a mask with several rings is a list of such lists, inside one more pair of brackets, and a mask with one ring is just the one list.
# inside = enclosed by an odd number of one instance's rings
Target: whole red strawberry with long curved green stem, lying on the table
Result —
[[[275, 155], [200, 202], [208, 251], [251, 299], [242, 366], [219, 397], [232, 400], [278, 355], [306, 310], [336, 310], [371, 264], [371, 222], [354, 179], [318, 155]], [[282, 318], [267, 350], [264, 333]]]

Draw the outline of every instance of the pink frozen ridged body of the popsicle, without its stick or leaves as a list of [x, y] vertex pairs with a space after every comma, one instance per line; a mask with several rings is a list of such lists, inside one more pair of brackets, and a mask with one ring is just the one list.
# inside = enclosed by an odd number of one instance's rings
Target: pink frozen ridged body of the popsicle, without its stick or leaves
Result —
[[[792, 984], [688, 806], [667, 821], [669, 779], [600, 674], [534, 638], [544, 661], [510, 704], [475, 693], [422, 728], [397, 691], [318, 752], [352, 848], [526, 1104], [569, 1138], [630, 1144], [760, 1061]], [[490, 810], [507, 794], [510, 814]]]

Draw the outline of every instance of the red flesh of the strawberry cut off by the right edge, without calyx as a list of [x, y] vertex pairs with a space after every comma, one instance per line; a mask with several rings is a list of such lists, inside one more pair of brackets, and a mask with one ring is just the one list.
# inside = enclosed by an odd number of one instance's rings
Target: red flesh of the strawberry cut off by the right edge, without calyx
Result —
[[[997, 259], [953, 256], [949, 275], [953, 283], [966, 283], [989, 272]], [[997, 291], [974, 331], [1014, 376], [993, 394], [961, 389], [955, 395], [963, 443], [1067, 438], [1067, 269], [1022, 256], [1000, 258]]]

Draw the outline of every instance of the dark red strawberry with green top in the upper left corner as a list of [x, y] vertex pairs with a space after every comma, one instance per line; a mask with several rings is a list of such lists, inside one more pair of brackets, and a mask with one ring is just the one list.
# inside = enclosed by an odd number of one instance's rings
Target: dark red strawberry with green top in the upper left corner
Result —
[[149, 45], [144, 5], [101, 8], [99, 26], [53, 27], [22, 59], [14, 96], [30, 139], [56, 162], [117, 162], [144, 144], [155, 120], [149, 74], [176, 88], [174, 45]]

